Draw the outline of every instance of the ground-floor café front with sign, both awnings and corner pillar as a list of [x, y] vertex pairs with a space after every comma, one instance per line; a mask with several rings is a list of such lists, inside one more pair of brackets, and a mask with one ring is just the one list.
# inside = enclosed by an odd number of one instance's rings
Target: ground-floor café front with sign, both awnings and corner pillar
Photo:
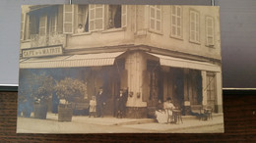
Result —
[[58, 79], [77, 74], [75, 78], [87, 83], [85, 99], [88, 103], [98, 88], [103, 87], [107, 96], [106, 116], [115, 116], [115, 99], [120, 89], [128, 90], [127, 118], [151, 116], [149, 109], [156, 108], [159, 101], [162, 103], [167, 97], [182, 109], [183, 115], [189, 115], [186, 110], [192, 105], [212, 106], [214, 112], [222, 112], [222, 91], [218, 89], [221, 68], [218, 65], [140, 49], [84, 55], [67, 55], [54, 46], [47, 47], [47, 52], [42, 49], [23, 50], [26, 58], [20, 61], [21, 71], [51, 71], [54, 77], [62, 70], [63, 76]]

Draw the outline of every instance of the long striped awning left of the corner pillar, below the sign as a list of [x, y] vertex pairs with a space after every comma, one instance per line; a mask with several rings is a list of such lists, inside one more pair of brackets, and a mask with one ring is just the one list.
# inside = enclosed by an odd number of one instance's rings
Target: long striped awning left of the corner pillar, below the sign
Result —
[[20, 69], [77, 68], [114, 65], [116, 57], [124, 52], [30, 58], [20, 61]]

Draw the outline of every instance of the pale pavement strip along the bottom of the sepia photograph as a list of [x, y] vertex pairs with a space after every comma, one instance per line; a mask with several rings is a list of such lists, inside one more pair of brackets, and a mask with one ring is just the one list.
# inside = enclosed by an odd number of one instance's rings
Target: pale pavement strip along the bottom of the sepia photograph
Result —
[[[97, 133], [97, 132], [150, 132], [150, 133], [222, 133], [224, 132], [223, 114], [214, 114], [213, 119], [199, 120], [193, 116], [182, 116], [183, 122], [159, 123], [155, 119], [116, 119], [112, 117], [89, 118], [73, 116], [71, 122], [58, 121], [58, 115], [47, 114], [46, 119], [18, 118], [17, 132], [27, 133]], [[36, 123], [37, 122], [37, 123]], [[41, 124], [41, 125], [39, 125]], [[69, 127], [65, 127], [69, 126]], [[47, 126], [46, 129], [43, 127]], [[73, 127], [74, 126], [74, 127]], [[76, 127], [75, 127], [76, 126]], [[80, 127], [85, 126], [85, 127]], [[90, 126], [90, 130], [87, 130]], [[80, 128], [80, 129], [78, 129]], [[84, 129], [83, 129], [84, 128]], [[106, 130], [104, 130], [106, 129]]]

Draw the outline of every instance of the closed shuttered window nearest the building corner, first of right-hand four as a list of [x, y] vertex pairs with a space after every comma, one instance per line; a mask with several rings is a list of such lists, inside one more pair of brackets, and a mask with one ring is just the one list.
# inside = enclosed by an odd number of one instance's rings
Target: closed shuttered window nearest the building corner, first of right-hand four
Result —
[[150, 30], [161, 31], [161, 7], [160, 5], [150, 6]]

